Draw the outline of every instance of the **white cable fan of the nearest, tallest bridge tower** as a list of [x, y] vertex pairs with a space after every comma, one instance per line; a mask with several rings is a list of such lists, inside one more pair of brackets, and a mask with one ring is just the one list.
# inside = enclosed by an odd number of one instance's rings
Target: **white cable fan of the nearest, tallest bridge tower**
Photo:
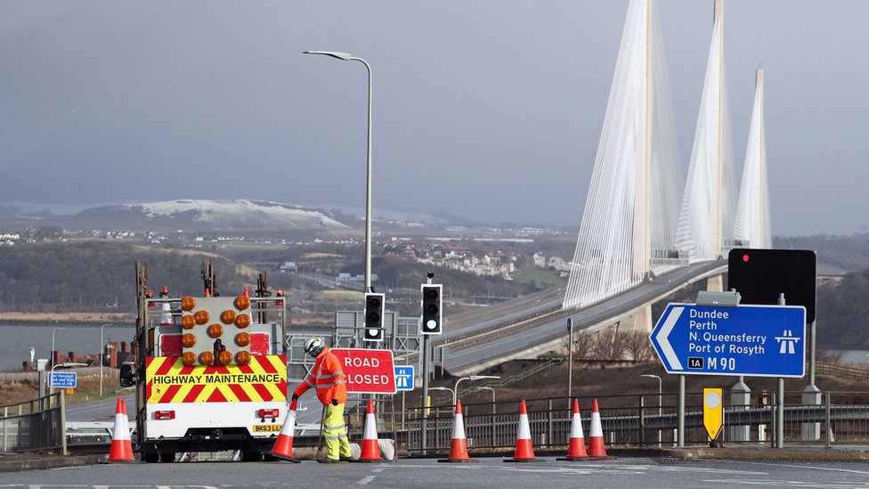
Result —
[[[636, 249], [648, 257], [666, 256], [674, 249], [682, 171], [660, 23], [651, 6], [649, 0], [629, 4], [565, 307], [589, 306], [643, 281], [654, 268], [632, 261]], [[650, 118], [647, 107], [653, 111]], [[649, 122], [654, 129], [651, 160], [646, 161]], [[646, 172], [651, 174], [651, 204], [635, 201], [647, 193]], [[651, 216], [635, 216], [635, 208]]]

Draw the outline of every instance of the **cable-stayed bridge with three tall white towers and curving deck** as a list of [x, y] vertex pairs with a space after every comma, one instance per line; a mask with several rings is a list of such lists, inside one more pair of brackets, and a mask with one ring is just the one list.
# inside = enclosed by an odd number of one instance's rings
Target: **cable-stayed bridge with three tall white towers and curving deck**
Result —
[[[724, 1], [712, 36], [687, 179], [676, 143], [661, 22], [631, 0], [570, 277], [563, 292], [447, 318], [435, 339], [452, 374], [564, 345], [577, 330], [652, 329], [651, 305], [686, 283], [722, 289], [727, 249], [770, 248], [763, 72], [737, 199], [724, 56]], [[738, 203], [738, 206], [737, 206]]]

